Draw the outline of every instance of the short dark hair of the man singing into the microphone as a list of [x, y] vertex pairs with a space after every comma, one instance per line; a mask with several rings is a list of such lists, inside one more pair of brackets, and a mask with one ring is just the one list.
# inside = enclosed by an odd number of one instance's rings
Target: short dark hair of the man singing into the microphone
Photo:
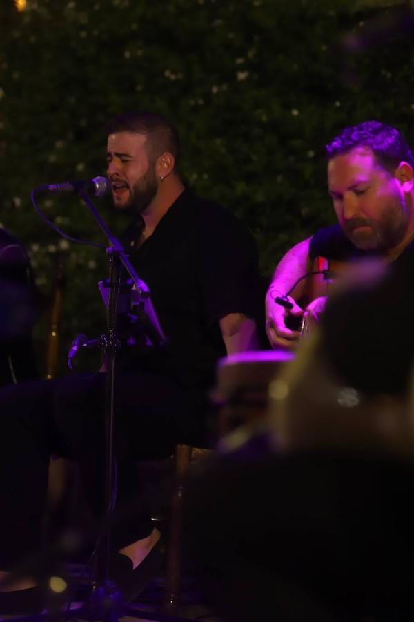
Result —
[[175, 169], [179, 158], [179, 134], [175, 126], [162, 115], [148, 111], [130, 111], [112, 117], [106, 123], [106, 132], [135, 132], [147, 136], [146, 149], [153, 164], [161, 153], [169, 151], [175, 158]]

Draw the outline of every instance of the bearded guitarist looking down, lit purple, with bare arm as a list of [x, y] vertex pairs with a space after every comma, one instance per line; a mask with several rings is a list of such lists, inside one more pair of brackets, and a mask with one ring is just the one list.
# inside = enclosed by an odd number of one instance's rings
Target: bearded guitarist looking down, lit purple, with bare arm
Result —
[[311, 301], [306, 296], [304, 277], [312, 279], [316, 258], [397, 264], [414, 250], [414, 158], [402, 133], [366, 121], [345, 128], [326, 145], [326, 153], [337, 223], [297, 243], [277, 265], [266, 294], [266, 332], [273, 347], [295, 346], [299, 331], [291, 320], [317, 321], [324, 310], [324, 296]]

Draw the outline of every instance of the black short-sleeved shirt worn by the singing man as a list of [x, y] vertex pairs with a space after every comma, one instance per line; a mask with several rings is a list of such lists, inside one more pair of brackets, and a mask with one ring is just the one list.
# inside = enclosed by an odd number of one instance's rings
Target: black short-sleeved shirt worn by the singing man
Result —
[[253, 236], [230, 211], [188, 189], [134, 249], [138, 235], [139, 227], [131, 225], [122, 243], [150, 288], [168, 344], [161, 352], [135, 352], [129, 365], [153, 366], [188, 385], [210, 384], [217, 359], [226, 354], [219, 319], [233, 312], [254, 319], [259, 314]]

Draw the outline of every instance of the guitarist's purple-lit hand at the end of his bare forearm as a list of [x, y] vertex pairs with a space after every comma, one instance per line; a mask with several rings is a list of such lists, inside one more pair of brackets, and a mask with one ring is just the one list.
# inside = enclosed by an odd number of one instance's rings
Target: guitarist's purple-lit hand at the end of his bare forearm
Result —
[[273, 346], [292, 348], [297, 344], [300, 337], [299, 330], [291, 330], [286, 326], [290, 317], [299, 318], [304, 310], [299, 307], [291, 296], [286, 296], [286, 300], [292, 305], [291, 309], [286, 309], [283, 305], [275, 302], [275, 297], [279, 295], [275, 290], [269, 290], [266, 294], [266, 334]]

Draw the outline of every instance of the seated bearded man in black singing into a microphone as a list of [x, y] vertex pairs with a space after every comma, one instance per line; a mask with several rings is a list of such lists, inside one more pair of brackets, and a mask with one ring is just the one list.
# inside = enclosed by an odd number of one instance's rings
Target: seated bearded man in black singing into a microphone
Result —
[[[217, 359], [258, 346], [253, 238], [229, 211], [184, 187], [178, 161], [177, 131], [161, 115], [132, 112], [110, 121], [113, 202], [133, 218], [122, 241], [168, 337], [164, 348], [137, 346], [116, 378], [119, 505], [137, 497], [132, 459], [166, 457], [177, 442], [206, 442], [207, 391]], [[96, 447], [104, 385], [105, 374], [97, 373], [31, 384], [19, 395], [12, 388], [1, 393], [3, 572], [39, 541], [50, 453], [79, 460], [88, 496], [102, 512]], [[143, 514], [130, 514], [112, 533], [119, 553], [111, 577], [129, 600], [151, 578], [159, 558], [159, 531]], [[0, 594], [0, 612], [33, 610], [39, 601], [33, 581], [12, 587], [14, 592]]]

